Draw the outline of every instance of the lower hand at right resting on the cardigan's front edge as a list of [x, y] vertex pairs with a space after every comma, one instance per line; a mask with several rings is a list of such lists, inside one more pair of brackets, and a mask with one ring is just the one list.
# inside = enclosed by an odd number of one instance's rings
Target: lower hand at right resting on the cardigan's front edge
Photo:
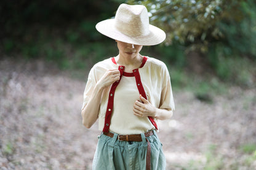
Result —
[[137, 117], [154, 117], [156, 115], [156, 107], [154, 107], [147, 99], [140, 95], [141, 101], [134, 103], [134, 115]]

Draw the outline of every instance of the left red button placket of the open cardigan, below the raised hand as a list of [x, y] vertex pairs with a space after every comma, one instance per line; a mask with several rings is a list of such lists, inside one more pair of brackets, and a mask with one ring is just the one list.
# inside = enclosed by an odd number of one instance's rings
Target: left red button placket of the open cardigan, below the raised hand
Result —
[[111, 114], [113, 112], [113, 106], [114, 106], [114, 91], [116, 91], [116, 87], [118, 87], [118, 84], [122, 78], [122, 74], [124, 73], [124, 66], [119, 66], [118, 70], [120, 72], [120, 79], [119, 81], [114, 82], [110, 88], [110, 93], [108, 95], [108, 106], [106, 107], [106, 116], [105, 116], [105, 124], [103, 128], [103, 132], [108, 132], [110, 129]]

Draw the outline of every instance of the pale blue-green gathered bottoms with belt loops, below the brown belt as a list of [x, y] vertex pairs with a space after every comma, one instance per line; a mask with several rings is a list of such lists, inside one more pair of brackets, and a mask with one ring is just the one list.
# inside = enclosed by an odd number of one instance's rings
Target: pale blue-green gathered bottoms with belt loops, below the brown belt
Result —
[[156, 131], [154, 135], [146, 137], [142, 134], [142, 142], [118, 141], [118, 134], [114, 137], [101, 134], [92, 163], [95, 170], [128, 170], [146, 169], [146, 151], [148, 143], [151, 144], [151, 169], [166, 169], [166, 158], [162, 152], [162, 144]]

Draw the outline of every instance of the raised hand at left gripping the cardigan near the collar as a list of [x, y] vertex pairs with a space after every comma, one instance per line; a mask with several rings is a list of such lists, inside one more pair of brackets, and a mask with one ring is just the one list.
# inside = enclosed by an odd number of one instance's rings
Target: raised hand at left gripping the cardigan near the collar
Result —
[[97, 85], [102, 88], [109, 87], [114, 82], [120, 79], [120, 72], [118, 69], [110, 69], [105, 72], [100, 80], [98, 80]]

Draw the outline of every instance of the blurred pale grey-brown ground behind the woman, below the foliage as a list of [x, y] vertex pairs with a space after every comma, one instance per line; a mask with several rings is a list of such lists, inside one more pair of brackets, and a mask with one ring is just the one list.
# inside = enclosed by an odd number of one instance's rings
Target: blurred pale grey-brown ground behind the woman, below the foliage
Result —
[[[82, 126], [84, 86], [40, 60], [0, 59], [0, 169], [91, 169], [100, 131]], [[255, 94], [230, 87], [209, 104], [174, 90], [158, 133], [167, 169], [256, 169]]]

